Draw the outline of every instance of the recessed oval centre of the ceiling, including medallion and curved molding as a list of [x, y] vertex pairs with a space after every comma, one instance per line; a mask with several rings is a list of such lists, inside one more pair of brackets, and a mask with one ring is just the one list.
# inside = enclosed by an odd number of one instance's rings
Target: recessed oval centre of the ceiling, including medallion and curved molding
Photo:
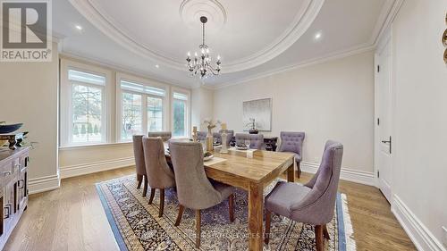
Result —
[[184, 69], [198, 51], [201, 23], [206, 42], [223, 58], [223, 72], [243, 71], [283, 53], [308, 29], [324, 0], [71, 0], [109, 38], [161, 64]]

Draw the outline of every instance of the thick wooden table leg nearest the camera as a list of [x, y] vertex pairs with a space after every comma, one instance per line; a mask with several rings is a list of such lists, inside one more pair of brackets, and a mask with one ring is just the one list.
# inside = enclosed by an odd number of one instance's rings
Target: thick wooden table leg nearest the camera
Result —
[[263, 185], [250, 183], [249, 185], [249, 250], [263, 249]]

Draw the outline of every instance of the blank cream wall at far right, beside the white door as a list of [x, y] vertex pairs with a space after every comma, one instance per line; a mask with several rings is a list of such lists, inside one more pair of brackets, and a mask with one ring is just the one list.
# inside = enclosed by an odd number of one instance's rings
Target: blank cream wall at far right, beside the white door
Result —
[[424, 250], [442, 250], [442, 226], [447, 228], [447, 66], [441, 44], [446, 11], [445, 0], [407, 0], [392, 23], [392, 204], [410, 238]]

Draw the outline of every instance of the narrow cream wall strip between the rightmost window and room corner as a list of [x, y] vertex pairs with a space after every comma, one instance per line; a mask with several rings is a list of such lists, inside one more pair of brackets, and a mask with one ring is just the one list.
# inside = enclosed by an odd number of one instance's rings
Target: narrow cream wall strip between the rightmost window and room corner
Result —
[[193, 88], [191, 91], [191, 126], [207, 131], [205, 119], [214, 117], [214, 91], [207, 88]]

